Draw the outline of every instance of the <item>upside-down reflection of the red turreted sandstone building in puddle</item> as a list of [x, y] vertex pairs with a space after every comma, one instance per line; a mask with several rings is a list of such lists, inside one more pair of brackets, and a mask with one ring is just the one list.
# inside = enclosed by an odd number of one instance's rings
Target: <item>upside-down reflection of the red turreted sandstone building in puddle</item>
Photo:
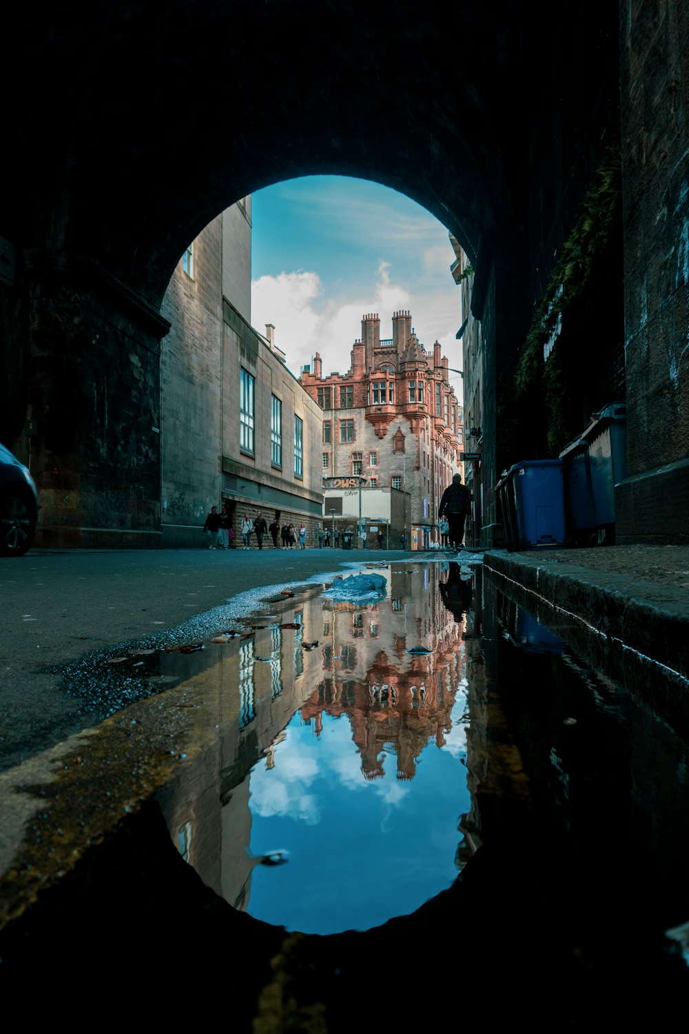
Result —
[[[443, 747], [451, 728], [465, 644], [432, 575], [427, 567], [394, 572], [389, 598], [375, 604], [322, 601], [326, 674], [302, 719], [319, 735], [323, 712], [346, 714], [368, 780], [384, 774], [387, 754], [397, 756], [399, 780], [413, 779], [427, 743]], [[418, 646], [430, 652], [407, 652]]]

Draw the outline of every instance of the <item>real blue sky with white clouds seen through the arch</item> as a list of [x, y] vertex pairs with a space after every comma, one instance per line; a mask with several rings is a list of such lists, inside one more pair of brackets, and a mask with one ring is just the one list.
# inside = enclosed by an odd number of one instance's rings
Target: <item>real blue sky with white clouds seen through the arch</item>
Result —
[[[308, 176], [252, 195], [251, 322], [275, 340], [299, 375], [315, 352], [323, 372], [345, 373], [362, 315], [377, 312], [392, 337], [393, 312], [408, 309], [430, 349], [437, 339], [462, 367], [460, 290], [447, 230], [404, 194], [367, 180]], [[461, 394], [461, 378], [450, 382]]]

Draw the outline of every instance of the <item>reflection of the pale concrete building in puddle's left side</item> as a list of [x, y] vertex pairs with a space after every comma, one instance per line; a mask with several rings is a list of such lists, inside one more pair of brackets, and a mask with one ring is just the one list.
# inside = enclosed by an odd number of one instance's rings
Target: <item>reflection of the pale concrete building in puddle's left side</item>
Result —
[[[320, 637], [320, 601], [307, 625], [308, 609], [303, 601], [279, 622], [194, 655], [193, 677], [213, 701], [218, 736], [158, 794], [178, 849], [208, 886], [242, 910], [258, 862], [248, 854], [249, 772], [261, 758], [273, 767], [285, 727], [319, 677], [319, 650], [302, 643], [305, 635]], [[165, 661], [181, 663], [178, 655]]]

